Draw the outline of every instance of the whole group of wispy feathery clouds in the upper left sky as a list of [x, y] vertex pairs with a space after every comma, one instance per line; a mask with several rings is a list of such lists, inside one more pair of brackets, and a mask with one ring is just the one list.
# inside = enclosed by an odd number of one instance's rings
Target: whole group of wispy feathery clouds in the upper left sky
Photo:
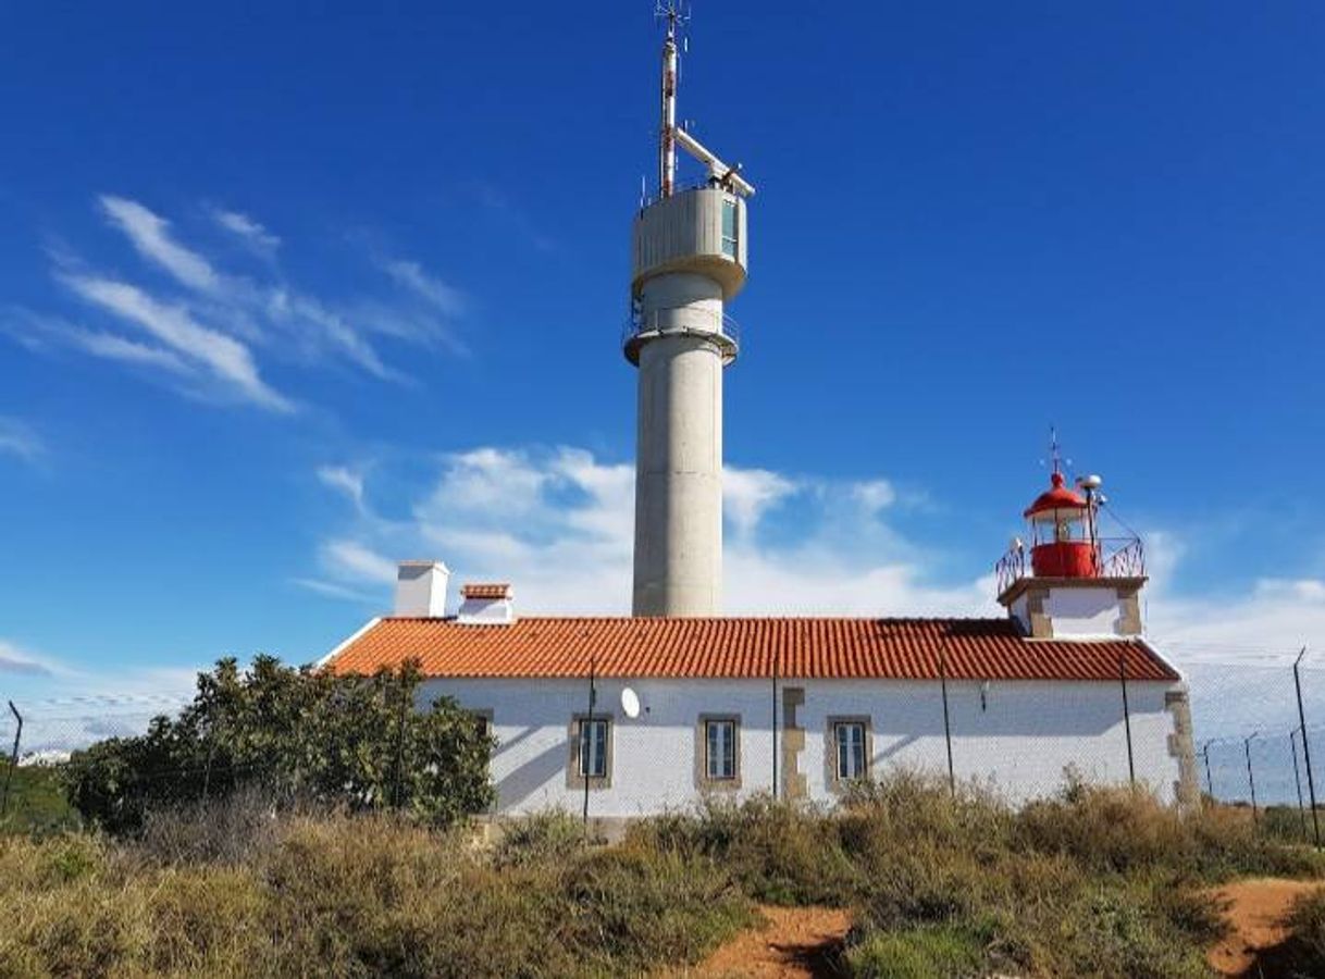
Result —
[[[166, 217], [136, 200], [107, 193], [97, 199], [97, 208], [176, 289], [101, 273], [61, 241], [46, 246], [54, 277], [118, 325], [131, 325], [147, 336], [28, 309], [4, 311], [0, 333], [36, 352], [74, 350], [154, 370], [176, 389], [212, 403], [241, 401], [281, 412], [294, 400], [266, 380], [268, 359], [303, 368], [347, 364], [378, 380], [413, 384], [387, 362], [379, 344], [468, 355], [452, 327], [465, 307], [462, 293], [417, 261], [383, 264], [366, 249], [364, 281], [374, 282], [376, 291], [327, 299], [286, 280], [276, 258], [280, 238], [248, 213], [204, 207], [217, 227], [266, 260], [257, 272], [235, 274], [186, 244]], [[386, 289], [374, 266], [384, 268], [398, 289]]]

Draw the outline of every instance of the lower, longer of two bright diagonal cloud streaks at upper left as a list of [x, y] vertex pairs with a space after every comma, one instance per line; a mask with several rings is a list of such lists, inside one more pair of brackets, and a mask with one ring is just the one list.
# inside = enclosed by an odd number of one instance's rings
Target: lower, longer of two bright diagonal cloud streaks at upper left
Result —
[[199, 325], [187, 307], [160, 303], [126, 282], [85, 276], [66, 276], [62, 281], [82, 298], [135, 323], [179, 355], [201, 364], [245, 400], [273, 411], [293, 409], [289, 400], [258, 376], [246, 346]]

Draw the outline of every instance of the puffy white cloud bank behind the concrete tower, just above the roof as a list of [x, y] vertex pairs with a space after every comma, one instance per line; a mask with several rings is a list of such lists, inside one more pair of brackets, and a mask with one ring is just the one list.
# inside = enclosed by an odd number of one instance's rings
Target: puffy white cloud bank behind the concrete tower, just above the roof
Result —
[[[920, 548], [900, 543], [868, 507], [845, 506], [857, 484], [733, 466], [727, 485], [729, 519], [739, 529], [725, 554], [730, 613], [999, 613], [991, 580], [931, 580]], [[514, 582], [525, 611], [629, 611], [632, 465], [578, 448], [484, 446], [444, 457], [416, 498], [404, 522], [376, 517], [366, 499], [358, 526], [323, 546], [323, 567], [386, 583], [394, 564], [383, 554], [440, 558], [457, 583]], [[792, 499], [794, 515], [766, 534], [774, 506]]]

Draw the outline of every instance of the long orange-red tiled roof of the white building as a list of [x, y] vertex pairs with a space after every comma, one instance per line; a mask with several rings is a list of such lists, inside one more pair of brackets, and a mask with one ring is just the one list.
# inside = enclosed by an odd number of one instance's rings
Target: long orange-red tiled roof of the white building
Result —
[[1140, 640], [1026, 639], [1011, 619], [382, 619], [330, 661], [374, 673], [419, 660], [433, 677], [730, 677], [1175, 681]]

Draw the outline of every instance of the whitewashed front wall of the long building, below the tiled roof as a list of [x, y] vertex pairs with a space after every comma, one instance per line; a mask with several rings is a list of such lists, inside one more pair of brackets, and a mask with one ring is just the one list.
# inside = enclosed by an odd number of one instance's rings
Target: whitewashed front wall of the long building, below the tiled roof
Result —
[[[623, 715], [620, 692], [640, 698], [636, 719]], [[1076, 767], [1088, 780], [1128, 780], [1122, 696], [1108, 682], [992, 681], [984, 705], [980, 684], [949, 684], [953, 760], [958, 779], [992, 784], [1011, 801], [1048, 795]], [[1178, 759], [1169, 754], [1173, 714], [1165, 693], [1177, 685], [1128, 685], [1138, 782], [1174, 799]], [[796, 709], [806, 731], [799, 772], [810, 798], [831, 801], [828, 723], [837, 715], [868, 715], [873, 733], [871, 771], [890, 767], [946, 774], [943, 710], [937, 682], [897, 680], [779, 681], [778, 723], [786, 723], [782, 690], [802, 688]], [[572, 718], [588, 707], [584, 680], [431, 680], [419, 693], [425, 707], [440, 694], [490, 715], [498, 746], [492, 772], [498, 812], [515, 815], [550, 807], [579, 812], [584, 791], [567, 779]], [[681, 808], [701, 795], [696, 783], [696, 726], [701, 714], [739, 715], [742, 798], [772, 788], [772, 684], [768, 680], [598, 681], [599, 715], [612, 719], [611, 786], [590, 791], [590, 815], [631, 817]], [[782, 735], [779, 734], [779, 745]], [[782, 770], [779, 768], [779, 780]], [[784, 786], [782, 786], [784, 788]]]

